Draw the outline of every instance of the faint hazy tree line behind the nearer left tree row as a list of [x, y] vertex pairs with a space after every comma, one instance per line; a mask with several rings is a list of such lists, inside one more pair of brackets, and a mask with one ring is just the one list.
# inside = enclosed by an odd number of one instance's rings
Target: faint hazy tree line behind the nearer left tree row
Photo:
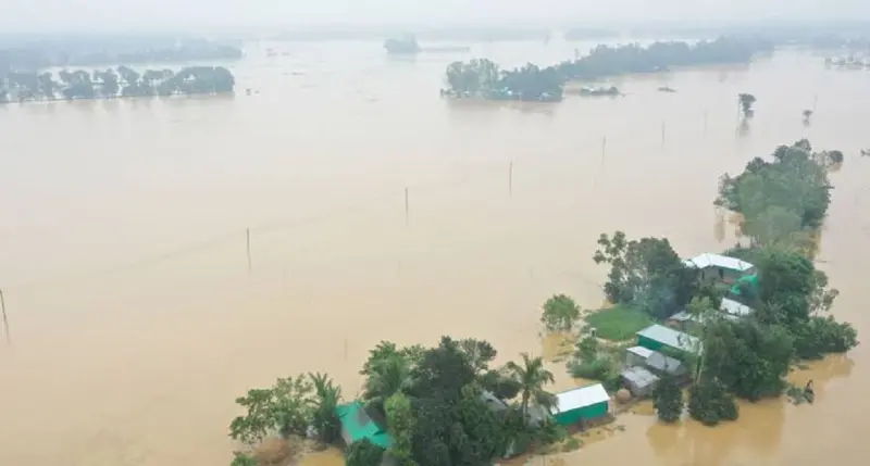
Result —
[[0, 37], [0, 72], [101, 64], [237, 60], [241, 49], [175, 37]]

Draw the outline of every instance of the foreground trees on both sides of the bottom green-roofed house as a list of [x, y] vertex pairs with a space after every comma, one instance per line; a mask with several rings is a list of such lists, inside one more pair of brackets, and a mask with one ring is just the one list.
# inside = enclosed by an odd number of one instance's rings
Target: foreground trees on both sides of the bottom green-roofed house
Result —
[[[533, 415], [556, 402], [545, 390], [552, 374], [540, 357], [522, 354], [520, 363], [492, 367], [496, 354], [492, 344], [474, 339], [443, 337], [434, 348], [378, 343], [360, 371], [361, 401], [394, 445], [381, 452], [368, 441], [355, 442], [347, 445], [347, 464], [378, 466], [382, 454], [389, 454], [400, 466], [483, 466], [560, 440], [561, 429]], [[335, 407], [341, 392], [325, 375], [278, 379], [236, 402], [246, 414], [231, 424], [233, 439], [256, 444], [269, 434], [315, 434], [323, 443], [340, 438]], [[248, 458], [237, 454], [239, 464]]]

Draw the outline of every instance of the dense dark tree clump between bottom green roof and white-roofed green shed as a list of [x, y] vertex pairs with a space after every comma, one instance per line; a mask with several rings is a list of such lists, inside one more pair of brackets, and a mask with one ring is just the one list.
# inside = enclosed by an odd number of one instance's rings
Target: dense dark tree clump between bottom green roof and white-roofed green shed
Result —
[[[552, 374], [527, 354], [490, 368], [496, 354], [485, 341], [448, 337], [431, 349], [382, 342], [371, 351], [363, 400], [383, 410], [396, 441], [390, 454], [400, 464], [484, 465], [544, 440], [546, 426], [531, 423], [529, 413], [552, 404], [544, 390]], [[518, 405], [495, 401], [518, 395]]]

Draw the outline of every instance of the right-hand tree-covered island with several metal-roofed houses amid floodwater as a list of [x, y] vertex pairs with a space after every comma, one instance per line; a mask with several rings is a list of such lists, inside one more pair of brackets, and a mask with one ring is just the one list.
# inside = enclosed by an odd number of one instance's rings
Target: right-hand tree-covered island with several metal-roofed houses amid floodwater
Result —
[[[723, 254], [681, 260], [667, 239], [601, 235], [594, 260], [610, 265], [605, 292], [616, 305], [585, 315], [569, 371], [622, 401], [652, 396], [663, 421], [680, 418], [688, 386], [689, 415], [710, 426], [738, 417], [736, 399], [800, 392], [785, 380], [793, 367], [858, 344], [855, 328], [829, 314], [838, 292], [812, 262], [837, 160], [800, 140], [725, 175], [716, 205], [742, 214], [749, 244]], [[558, 308], [570, 327], [577, 313]]]

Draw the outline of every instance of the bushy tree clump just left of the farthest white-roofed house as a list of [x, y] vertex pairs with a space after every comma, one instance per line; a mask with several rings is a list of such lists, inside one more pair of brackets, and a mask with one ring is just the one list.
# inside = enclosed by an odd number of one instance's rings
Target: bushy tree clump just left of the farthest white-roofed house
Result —
[[627, 240], [601, 234], [593, 260], [610, 265], [607, 299], [667, 318], [685, 306], [697, 288], [697, 270], [686, 267], [667, 239]]

